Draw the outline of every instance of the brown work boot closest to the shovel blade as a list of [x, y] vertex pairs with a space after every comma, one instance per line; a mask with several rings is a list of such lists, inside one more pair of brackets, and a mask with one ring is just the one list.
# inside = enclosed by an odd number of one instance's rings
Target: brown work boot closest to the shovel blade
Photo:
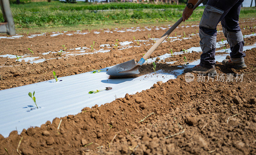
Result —
[[196, 65], [195, 67], [192, 68], [185, 68], [184, 73], [192, 72], [196, 74], [204, 74], [204, 75], [209, 75], [209, 76], [215, 76], [217, 74], [217, 71], [215, 70], [214, 66], [213, 68], [204, 68], [200, 65]]

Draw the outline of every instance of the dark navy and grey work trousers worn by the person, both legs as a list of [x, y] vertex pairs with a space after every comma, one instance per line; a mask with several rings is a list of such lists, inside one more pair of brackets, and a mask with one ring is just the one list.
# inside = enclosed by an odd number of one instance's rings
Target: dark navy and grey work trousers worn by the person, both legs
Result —
[[230, 57], [234, 63], [244, 62], [244, 39], [238, 24], [244, 0], [209, 0], [199, 24], [200, 46], [203, 51], [200, 66], [215, 65], [216, 27], [221, 21], [224, 36], [230, 45]]

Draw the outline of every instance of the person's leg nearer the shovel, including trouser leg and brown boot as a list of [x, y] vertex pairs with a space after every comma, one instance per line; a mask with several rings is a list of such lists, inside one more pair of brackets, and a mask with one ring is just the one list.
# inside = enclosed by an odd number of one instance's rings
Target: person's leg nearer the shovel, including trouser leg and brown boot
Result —
[[222, 20], [228, 11], [239, 0], [209, 0], [205, 6], [203, 16], [199, 24], [200, 46], [203, 51], [199, 66], [193, 68], [186, 68], [184, 73], [203, 73], [209, 74], [215, 71], [215, 50], [216, 50], [216, 27], [220, 20]]

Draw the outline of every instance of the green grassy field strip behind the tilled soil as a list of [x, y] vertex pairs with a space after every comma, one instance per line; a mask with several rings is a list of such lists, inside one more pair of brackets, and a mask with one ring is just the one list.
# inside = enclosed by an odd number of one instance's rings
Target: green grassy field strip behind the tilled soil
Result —
[[[45, 28], [58, 27], [68, 27], [67, 30], [72, 30], [74, 26], [93, 29], [102, 25], [105, 26], [104, 28], [109, 28], [119, 24], [175, 22], [181, 17], [184, 7], [185, 4], [91, 4], [84, 2], [68, 4], [60, 1], [11, 4], [15, 26], [18, 32], [23, 33], [31, 28], [36, 28], [36, 31], [40, 32]], [[200, 20], [203, 10], [204, 7], [198, 7], [188, 21]], [[254, 7], [243, 8], [240, 18], [252, 17], [255, 12]], [[3, 21], [1, 13], [0, 22]]]

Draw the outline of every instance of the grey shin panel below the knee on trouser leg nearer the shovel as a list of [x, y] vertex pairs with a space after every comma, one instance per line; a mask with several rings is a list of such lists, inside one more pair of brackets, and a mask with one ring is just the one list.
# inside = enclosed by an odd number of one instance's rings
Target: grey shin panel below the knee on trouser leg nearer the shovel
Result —
[[216, 48], [216, 38], [214, 35], [207, 35], [203, 30], [199, 29], [200, 46], [203, 53]]

